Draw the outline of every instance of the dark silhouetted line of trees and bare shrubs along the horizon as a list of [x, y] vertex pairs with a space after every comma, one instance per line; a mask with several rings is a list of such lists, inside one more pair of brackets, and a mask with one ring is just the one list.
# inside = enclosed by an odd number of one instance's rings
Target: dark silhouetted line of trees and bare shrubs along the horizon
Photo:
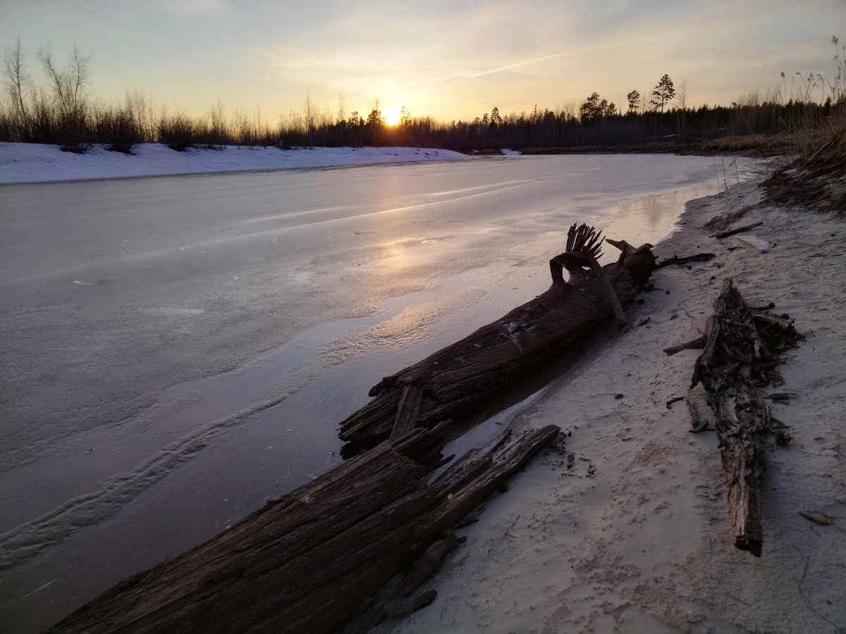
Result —
[[782, 86], [752, 91], [728, 106], [689, 107], [687, 83], [678, 89], [667, 74], [651, 94], [631, 90], [627, 111], [594, 92], [578, 107], [502, 114], [497, 107], [472, 121], [443, 122], [415, 117], [403, 108], [395, 125], [387, 125], [379, 103], [370, 112], [346, 111], [343, 98], [335, 112], [321, 110], [306, 95], [301, 111], [271, 122], [261, 112], [234, 110], [221, 101], [201, 117], [156, 106], [138, 90], [123, 102], [91, 97], [91, 57], [74, 46], [64, 65], [49, 48], [37, 53], [46, 81], [32, 80], [20, 41], [3, 57], [5, 98], [0, 104], [0, 140], [47, 143], [84, 152], [94, 144], [131, 153], [140, 143], [162, 143], [174, 150], [222, 149], [226, 145], [277, 146], [412, 146], [474, 151], [612, 147], [656, 140], [692, 140], [717, 135], [791, 133], [846, 125], [844, 64], [837, 38], [834, 79], [820, 74], [794, 78]]

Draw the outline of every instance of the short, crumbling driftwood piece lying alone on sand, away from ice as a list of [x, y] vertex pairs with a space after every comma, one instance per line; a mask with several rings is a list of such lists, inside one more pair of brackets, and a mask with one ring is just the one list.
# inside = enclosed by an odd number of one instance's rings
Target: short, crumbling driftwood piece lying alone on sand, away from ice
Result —
[[801, 337], [786, 315], [750, 310], [731, 278], [714, 301], [707, 330], [690, 387], [701, 381], [716, 418], [734, 545], [760, 557], [763, 436], [777, 426], [761, 389], [780, 382], [778, 355]]

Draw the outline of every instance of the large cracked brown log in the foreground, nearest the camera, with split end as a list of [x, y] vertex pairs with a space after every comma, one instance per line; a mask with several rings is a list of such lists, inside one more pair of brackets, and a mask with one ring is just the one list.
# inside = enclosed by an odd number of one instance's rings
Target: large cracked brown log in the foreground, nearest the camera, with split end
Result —
[[[416, 429], [344, 462], [206, 544], [118, 583], [49, 632], [332, 631], [559, 432], [506, 432], [426, 484], [441, 464], [447, 427]], [[431, 568], [443, 548], [421, 566]], [[390, 615], [433, 598], [382, 609]]]

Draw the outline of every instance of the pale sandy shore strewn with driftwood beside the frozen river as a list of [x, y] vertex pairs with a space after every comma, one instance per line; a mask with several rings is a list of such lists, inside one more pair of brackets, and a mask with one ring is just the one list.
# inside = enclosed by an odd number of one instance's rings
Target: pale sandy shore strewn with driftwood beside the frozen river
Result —
[[[488, 500], [479, 522], [426, 588], [434, 604], [382, 632], [838, 632], [846, 629], [846, 224], [762, 202], [761, 181], [688, 205], [660, 257], [710, 251], [704, 264], [656, 271], [604, 342], [514, 425], [558, 424], [566, 456], [547, 451]], [[761, 253], [709, 238], [715, 216], [763, 221]], [[612, 236], [612, 238], [625, 238]], [[689, 432], [683, 402], [695, 358], [662, 348], [699, 336], [723, 281], [751, 305], [774, 302], [805, 341], [788, 353], [788, 392], [772, 413], [793, 441], [767, 441], [764, 552], [734, 549], [713, 431]], [[701, 387], [697, 388], [701, 390]], [[622, 397], [617, 397], [623, 395]], [[822, 511], [830, 526], [799, 511]], [[423, 589], [426, 589], [423, 588]]]

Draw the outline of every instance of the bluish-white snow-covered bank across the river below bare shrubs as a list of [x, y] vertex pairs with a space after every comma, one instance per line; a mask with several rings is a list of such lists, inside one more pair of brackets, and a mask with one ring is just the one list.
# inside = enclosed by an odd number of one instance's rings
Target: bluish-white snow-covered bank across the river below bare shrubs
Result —
[[131, 178], [213, 172], [255, 172], [296, 167], [342, 167], [405, 161], [467, 159], [452, 150], [409, 147], [320, 147], [279, 150], [239, 147], [223, 150], [171, 150], [145, 143], [131, 156], [96, 145], [85, 154], [59, 150], [58, 145], [0, 144], [0, 183], [47, 183], [92, 178]]

